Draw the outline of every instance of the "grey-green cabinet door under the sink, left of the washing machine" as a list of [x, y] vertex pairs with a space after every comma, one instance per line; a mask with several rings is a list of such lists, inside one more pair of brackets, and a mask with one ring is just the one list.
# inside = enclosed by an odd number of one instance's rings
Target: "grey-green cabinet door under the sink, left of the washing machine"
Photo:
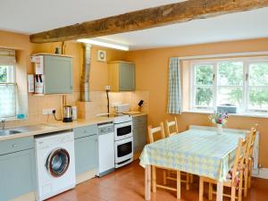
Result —
[[20, 197], [36, 189], [34, 149], [0, 155], [0, 200]]

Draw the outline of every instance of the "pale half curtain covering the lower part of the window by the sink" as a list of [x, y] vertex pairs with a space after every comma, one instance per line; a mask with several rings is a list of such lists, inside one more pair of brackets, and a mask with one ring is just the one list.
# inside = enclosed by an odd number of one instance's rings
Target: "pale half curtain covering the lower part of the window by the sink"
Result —
[[15, 90], [15, 85], [0, 85], [0, 118], [16, 115]]

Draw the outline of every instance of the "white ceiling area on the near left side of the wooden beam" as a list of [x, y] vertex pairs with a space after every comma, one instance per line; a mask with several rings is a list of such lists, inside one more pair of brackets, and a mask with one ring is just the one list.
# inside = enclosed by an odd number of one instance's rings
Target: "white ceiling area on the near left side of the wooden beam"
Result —
[[0, 29], [37, 33], [175, 0], [1, 0]]

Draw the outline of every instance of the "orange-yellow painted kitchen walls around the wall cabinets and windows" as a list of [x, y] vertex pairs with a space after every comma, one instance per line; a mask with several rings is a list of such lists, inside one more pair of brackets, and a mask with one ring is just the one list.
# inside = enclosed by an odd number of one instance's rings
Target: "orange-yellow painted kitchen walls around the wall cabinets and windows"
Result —
[[[33, 53], [46, 52], [54, 53], [54, 48], [61, 46], [60, 43], [35, 45], [29, 43], [29, 36], [0, 31], [0, 47], [14, 48], [17, 52], [20, 68], [24, 67], [28, 73], [33, 72], [33, 67], [29, 62], [29, 56]], [[108, 84], [108, 71], [106, 63], [96, 61], [97, 49], [107, 51], [107, 61], [126, 59], [135, 62], [137, 66], [137, 90], [148, 92], [148, 122], [157, 125], [160, 121], [172, 118], [166, 113], [167, 105], [167, 76], [168, 61], [171, 56], [188, 56], [200, 54], [228, 54], [235, 52], [267, 51], [268, 38], [247, 41], [214, 43], [198, 46], [178, 46], [169, 48], [158, 48], [149, 50], [132, 51], [129, 53], [94, 47], [92, 51], [92, 64], [90, 71], [90, 89], [93, 91], [104, 90]], [[82, 47], [80, 44], [67, 43], [66, 54], [72, 54], [74, 58], [74, 93], [68, 96], [68, 101], [74, 104], [79, 99], [80, 70], [82, 66]], [[25, 78], [26, 79], [26, 78]], [[21, 81], [26, 84], [25, 80]], [[99, 94], [99, 93], [96, 93]], [[29, 95], [29, 120], [15, 121], [18, 123], [37, 123], [47, 121], [46, 116], [42, 115], [42, 108], [56, 107], [60, 109], [61, 96], [32, 96]], [[187, 130], [188, 125], [211, 125], [206, 114], [183, 113], [178, 115], [180, 130]], [[248, 129], [255, 123], [260, 125], [261, 146], [260, 163], [268, 168], [268, 119], [230, 117], [229, 128]]]

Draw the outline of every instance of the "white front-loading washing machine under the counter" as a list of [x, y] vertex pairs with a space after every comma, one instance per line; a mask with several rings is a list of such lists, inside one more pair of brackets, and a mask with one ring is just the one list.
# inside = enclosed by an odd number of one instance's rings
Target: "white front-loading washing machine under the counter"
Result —
[[56, 132], [37, 137], [35, 150], [38, 201], [75, 187], [73, 132]]

